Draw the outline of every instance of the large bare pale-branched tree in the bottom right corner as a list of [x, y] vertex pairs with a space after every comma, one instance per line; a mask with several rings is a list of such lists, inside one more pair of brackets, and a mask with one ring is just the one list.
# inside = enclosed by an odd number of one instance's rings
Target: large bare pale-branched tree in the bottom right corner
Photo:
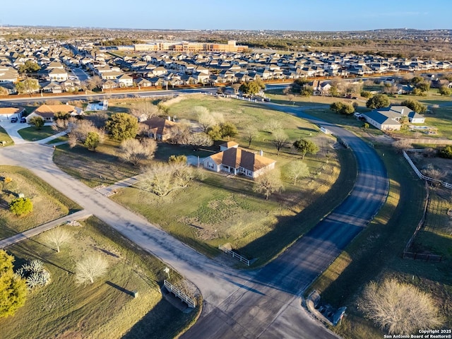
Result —
[[432, 297], [395, 279], [386, 279], [381, 284], [369, 283], [364, 288], [359, 307], [367, 319], [391, 334], [441, 326]]

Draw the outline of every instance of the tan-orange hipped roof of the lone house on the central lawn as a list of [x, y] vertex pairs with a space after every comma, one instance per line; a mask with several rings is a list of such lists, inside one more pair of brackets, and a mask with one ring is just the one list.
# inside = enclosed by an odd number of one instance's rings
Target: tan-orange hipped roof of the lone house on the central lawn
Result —
[[276, 162], [268, 157], [263, 157], [257, 153], [249, 152], [249, 150], [234, 147], [228, 148], [220, 153], [210, 155], [210, 158], [215, 161], [217, 165], [225, 165], [234, 168], [242, 167], [253, 172]]

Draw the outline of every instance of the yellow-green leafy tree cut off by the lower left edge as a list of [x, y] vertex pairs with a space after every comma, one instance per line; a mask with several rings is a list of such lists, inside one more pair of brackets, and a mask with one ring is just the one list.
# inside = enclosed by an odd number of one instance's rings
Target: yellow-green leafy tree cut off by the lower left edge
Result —
[[13, 272], [14, 257], [0, 249], [0, 318], [13, 316], [27, 297], [25, 280]]

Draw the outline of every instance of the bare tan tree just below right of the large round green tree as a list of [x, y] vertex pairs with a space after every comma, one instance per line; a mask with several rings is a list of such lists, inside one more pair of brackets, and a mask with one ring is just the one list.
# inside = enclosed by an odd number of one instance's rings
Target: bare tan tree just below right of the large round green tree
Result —
[[141, 142], [137, 139], [126, 139], [119, 146], [119, 157], [136, 166], [143, 160], [152, 159], [155, 150], [157, 150], [157, 142], [153, 139], [143, 139]]

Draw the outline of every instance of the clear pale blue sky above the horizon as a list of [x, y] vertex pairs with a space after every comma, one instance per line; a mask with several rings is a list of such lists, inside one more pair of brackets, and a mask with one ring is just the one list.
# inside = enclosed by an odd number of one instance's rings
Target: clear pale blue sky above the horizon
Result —
[[173, 30], [451, 29], [451, 0], [2, 0], [1, 25]]

